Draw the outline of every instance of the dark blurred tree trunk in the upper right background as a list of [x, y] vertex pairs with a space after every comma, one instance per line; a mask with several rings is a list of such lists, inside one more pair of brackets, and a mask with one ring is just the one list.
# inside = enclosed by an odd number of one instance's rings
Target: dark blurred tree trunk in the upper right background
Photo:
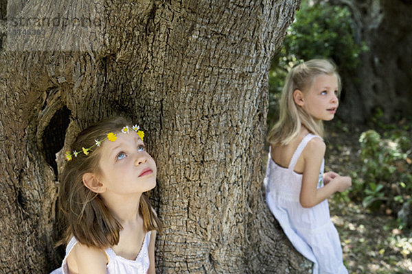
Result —
[[369, 51], [359, 68], [343, 75], [346, 121], [368, 121], [383, 111], [383, 121], [412, 114], [412, 1], [331, 0], [347, 5], [356, 21], [357, 38]]

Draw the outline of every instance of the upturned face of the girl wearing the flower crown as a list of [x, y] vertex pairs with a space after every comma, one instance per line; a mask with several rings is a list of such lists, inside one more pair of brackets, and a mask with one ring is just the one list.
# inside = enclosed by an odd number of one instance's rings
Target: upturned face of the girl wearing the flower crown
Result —
[[[156, 186], [156, 163], [136, 132], [117, 133], [117, 140], [102, 143], [100, 180], [105, 192], [133, 195]], [[107, 194], [107, 193], [106, 193]]]

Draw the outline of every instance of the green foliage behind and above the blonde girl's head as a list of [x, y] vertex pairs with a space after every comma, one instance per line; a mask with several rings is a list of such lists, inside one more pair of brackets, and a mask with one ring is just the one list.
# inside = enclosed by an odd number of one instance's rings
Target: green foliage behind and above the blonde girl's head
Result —
[[[284, 38], [284, 47], [273, 58], [269, 74], [271, 100], [284, 86], [286, 74], [292, 66], [313, 58], [334, 60], [339, 71], [353, 71], [359, 64], [359, 54], [367, 47], [355, 40], [356, 24], [350, 10], [328, 3], [310, 4], [303, 0], [295, 22]], [[269, 105], [268, 125], [277, 120], [277, 103]]]

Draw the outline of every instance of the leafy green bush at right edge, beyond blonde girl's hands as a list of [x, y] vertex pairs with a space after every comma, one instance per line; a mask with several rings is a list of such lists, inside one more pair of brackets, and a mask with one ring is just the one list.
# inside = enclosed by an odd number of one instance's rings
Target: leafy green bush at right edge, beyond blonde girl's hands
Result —
[[377, 210], [382, 203], [397, 211], [404, 201], [411, 199], [411, 140], [407, 132], [394, 130], [382, 139], [374, 130], [363, 132], [361, 171], [353, 177], [351, 195], [361, 197], [363, 206]]

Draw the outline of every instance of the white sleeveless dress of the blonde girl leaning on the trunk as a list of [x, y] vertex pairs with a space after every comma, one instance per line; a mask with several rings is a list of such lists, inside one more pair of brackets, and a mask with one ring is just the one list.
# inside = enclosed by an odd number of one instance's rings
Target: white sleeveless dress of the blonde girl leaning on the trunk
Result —
[[[287, 169], [277, 165], [269, 152], [264, 179], [266, 203], [295, 249], [314, 263], [313, 274], [347, 274], [339, 235], [330, 220], [328, 200], [312, 208], [303, 208], [299, 201], [302, 175], [295, 173], [295, 164], [312, 138], [320, 137], [305, 136]], [[324, 160], [318, 188], [323, 187], [323, 170]]]

